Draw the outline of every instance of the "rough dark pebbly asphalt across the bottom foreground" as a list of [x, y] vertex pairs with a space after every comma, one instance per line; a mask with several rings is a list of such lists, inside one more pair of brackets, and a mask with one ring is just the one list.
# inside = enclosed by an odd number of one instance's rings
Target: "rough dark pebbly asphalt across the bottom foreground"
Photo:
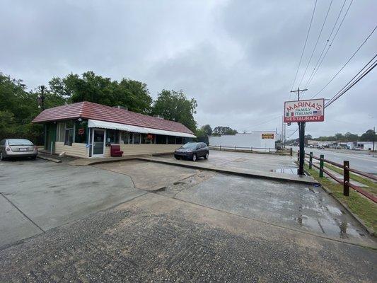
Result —
[[[233, 232], [194, 216], [209, 212]], [[0, 282], [377, 280], [374, 250], [323, 239], [298, 244], [264, 224], [240, 224], [249, 229], [240, 233], [236, 222], [250, 220], [238, 218], [149, 193], [1, 250]]]

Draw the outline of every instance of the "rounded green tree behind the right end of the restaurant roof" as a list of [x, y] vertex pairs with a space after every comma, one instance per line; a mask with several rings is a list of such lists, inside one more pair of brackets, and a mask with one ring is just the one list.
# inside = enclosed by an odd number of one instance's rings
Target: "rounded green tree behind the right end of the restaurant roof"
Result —
[[188, 99], [182, 91], [167, 91], [164, 89], [158, 93], [157, 100], [153, 103], [152, 114], [161, 115], [165, 119], [180, 122], [192, 132], [196, 132], [197, 100]]

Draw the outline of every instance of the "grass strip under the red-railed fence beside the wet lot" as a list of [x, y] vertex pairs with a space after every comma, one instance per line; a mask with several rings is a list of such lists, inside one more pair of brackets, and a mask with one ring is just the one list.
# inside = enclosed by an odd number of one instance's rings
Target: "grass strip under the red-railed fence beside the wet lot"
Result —
[[309, 166], [306, 164], [304, 166], [305, 170], [308, 171], [315, 180], [318, 180], [319, 183], [327, 187], [334, 197], [347, 204], [349, 210], [359, 216], [366, 226], [373, 229], [373, 231], [377, 231], [377, 204], [371, 200], [367, 200], [352, 188], [349, 188], [349, 197], [344, 196], [343, 185], [332, 183], [332, 181], [327, 178], [320, 178], [318, 171], [309, 169]]

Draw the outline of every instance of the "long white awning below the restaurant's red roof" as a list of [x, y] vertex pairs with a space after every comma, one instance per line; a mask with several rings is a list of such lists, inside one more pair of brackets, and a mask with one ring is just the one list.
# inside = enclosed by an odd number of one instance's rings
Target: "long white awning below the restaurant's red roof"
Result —
[[105, 122], [105, 121], [91, 120], [91, 119], [88, 120], [88, 127], [100, 128], [100, 129], [119, 129], [121, 131], [137, 132], [141, 134], [163, 134], [166, 136], [173, 136], [173, 137], [195, 137], [195, 135], [193, 134], [187, 134], [183, 132], [165, 131], [163, 129], [137, 127], [137, 126], [132, 126], [132, 125], [125, 125], [125, 124], [120, 124], [120, 123]]

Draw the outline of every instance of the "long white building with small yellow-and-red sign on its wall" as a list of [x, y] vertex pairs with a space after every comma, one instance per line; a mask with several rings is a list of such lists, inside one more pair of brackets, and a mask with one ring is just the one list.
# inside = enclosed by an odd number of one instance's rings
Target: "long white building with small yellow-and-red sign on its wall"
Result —
[[210, 146], [229, 147], [234, 149], [248, 148], [255, 151], [268, 151], [268, 149], [275, 149], [275, 141], [277, 133], [271, 132], [250, 132], [245, 134], [223, 134], [221, 137], [209, 137]]

